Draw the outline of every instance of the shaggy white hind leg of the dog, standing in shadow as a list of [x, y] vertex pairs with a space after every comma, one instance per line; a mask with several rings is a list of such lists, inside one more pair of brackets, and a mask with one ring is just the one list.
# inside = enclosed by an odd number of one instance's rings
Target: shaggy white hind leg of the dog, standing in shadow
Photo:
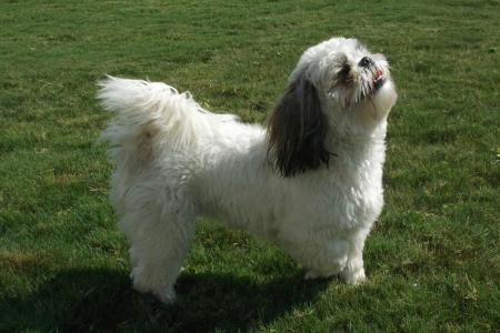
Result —
[[194, 232], [193, 209], [168, 189], [141, 184], [126, 195], [120, 226], [131, 243], [133, 287], [170, 303]]

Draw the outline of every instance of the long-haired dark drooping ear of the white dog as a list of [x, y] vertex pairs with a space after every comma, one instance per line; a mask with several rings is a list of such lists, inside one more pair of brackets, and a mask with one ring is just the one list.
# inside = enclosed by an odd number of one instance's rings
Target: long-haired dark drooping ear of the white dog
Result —
[[278, 102], [268, 125], [268, 158], [283, 176], [328, 165], [324, 149], [328, 124], [318, 92], [306, 79], [291, 82]]

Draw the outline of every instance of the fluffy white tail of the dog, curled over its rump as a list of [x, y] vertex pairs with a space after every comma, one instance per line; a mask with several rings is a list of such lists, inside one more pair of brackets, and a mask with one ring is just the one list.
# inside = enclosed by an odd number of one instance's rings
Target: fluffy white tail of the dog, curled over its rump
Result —
[[212, 131], [211, 115], [189, 92], [159, 82], [108, 77], [99, 83], [98, 99], [116, 117], [102, 132], [110, 143], [110, 160], [131, 165], [152, 160], [159, 151], [183, 150]]

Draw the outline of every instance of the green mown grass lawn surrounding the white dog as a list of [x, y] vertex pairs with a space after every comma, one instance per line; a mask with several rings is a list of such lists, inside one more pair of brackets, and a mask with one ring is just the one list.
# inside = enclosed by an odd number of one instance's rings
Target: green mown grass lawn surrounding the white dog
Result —
[[[493, 0], [2, 1], [0, 331], [498, 332], [499, 11]], [[386, 53], [399, 89], [369, 281], [304, 282], [278, 248], [200, 221], [179, 302], [133, 292], [96, 81], [161, 80], [263, 122], [301, 52], [331, 36]]]

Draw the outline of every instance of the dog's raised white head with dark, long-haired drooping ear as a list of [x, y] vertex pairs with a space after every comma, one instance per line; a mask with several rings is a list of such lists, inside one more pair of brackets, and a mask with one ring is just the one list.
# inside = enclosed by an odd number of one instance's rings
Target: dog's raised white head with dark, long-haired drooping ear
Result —
[[382, 54], [356, 39], [319, 43], [300, 58], [270, 118], [268, 154], [283, 176], [328, 165], [331, 141], [372, 135], [396, 100]]

